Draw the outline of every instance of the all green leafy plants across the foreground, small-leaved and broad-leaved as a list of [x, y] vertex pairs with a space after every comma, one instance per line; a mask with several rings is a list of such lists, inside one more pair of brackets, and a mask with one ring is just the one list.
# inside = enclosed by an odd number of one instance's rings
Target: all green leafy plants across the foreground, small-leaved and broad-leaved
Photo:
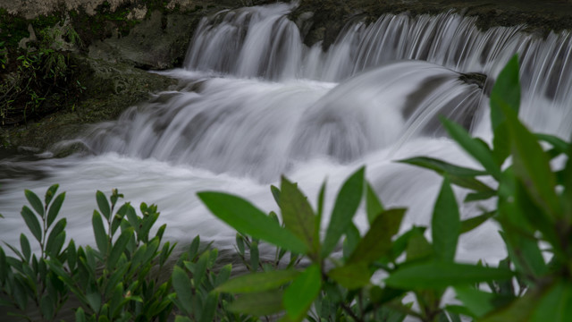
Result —
[[[429, 157], [400, 161], [442, 174], [431, 227], [399, 233], [407, 209], [384, 208], [364, 168], [343, 183], [324, 233], [325, 184], [313, 208], [297, 184], [282, 178], [271, 187], [280, 217], [238, 196], [199, 192], [214, 216], [238, 231], [239, 271], [249, 272], [240, 276], [231, 277], [236, 267], [218, 262], [218, 251], [198, 237], [173, 258], [174, 245], [162, 243], [165, 225], [150, 233], [156, 206], [143, 203], [138, 212], [129, 203], [119, 206], [118, 191], [109, 198], [97, 191], [96, 248], [76, 247], [65, 243], [66, 221], [58, 219], [65, 194], [56, 196], [57, 185], [43, 201], [25, 191], [29, 206], [21, 216], [29, 234], [21, 234], [20, 247], [8, 245], [13, 256], [0, 248], [0, 305], [28, 320], [37, 308], [47, 321], [66, 301], [73, 301], [78, 321], [173, 315], [181, 322], [566, 321], [572, 316], [572, 143], [527, 130], [517, 119], [519, 100], [515, 57], [492, 89], [492, 145], [443, 120], [483, 169]], [[565, 165], [552, 168], [561, 156]], [[492, 199], [496, 207], [461, 220], [451, 184], [470, 191], [465, 203]], [[352, 223], [362, 202], [370, 224], [364, 235]], [[508, 257], [498, 264], [458, 262], [459, 236], [487, 220], [501, 226]], [[263, 242], [275, 247], [273, 260], [260, 259]], [[172, 274], [159, 274], [165, 267]], [[446, 291], [458, 303], [442, 301]]]

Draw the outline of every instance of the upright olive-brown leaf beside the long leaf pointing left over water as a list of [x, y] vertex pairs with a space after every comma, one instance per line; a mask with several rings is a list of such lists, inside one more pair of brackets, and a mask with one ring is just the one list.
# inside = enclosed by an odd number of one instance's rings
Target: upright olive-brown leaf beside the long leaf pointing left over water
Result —
[[296, 184], [282, 177], [280, 193], [280, 208], [282, 220], [290, 232], [306, 243], [308, 250], [316, 251], [314, 233], [315, 217], [312, 206], [307, 202], [306, 196], [299, 191]]

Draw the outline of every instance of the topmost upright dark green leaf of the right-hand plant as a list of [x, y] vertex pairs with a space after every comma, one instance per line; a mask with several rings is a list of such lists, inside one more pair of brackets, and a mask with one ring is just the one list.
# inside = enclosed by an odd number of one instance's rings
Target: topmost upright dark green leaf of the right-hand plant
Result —
[[491, 124], [496, 130], [505, 121], [505, 108], [518, 114], [520, 107], [520, 80], [518, 76], [518, 56], [514, 55], [503, 68], [491, 91]]

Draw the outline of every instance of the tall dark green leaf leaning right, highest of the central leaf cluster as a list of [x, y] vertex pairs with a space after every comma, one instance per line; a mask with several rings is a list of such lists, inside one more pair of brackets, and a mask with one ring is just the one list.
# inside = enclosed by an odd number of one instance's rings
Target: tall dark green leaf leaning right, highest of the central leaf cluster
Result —
[[332, 210], [330, 225], [326, 230], [321, 257], [326, 258], [340, 241], [341, 235], [346, 232], [357, 207], [362, 199], [364, 190], [365, 168], [358, 169], [343, 183]]

